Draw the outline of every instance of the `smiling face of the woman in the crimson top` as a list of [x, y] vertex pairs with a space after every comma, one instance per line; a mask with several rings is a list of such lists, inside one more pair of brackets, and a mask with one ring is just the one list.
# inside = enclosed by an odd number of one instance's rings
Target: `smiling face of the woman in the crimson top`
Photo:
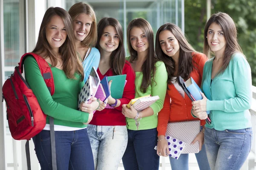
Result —
[[99, 40], [99, 46], [105, 52], [113, 52], [119, 46], [119, 37], [113, 26], [106, 26], [102, 37]]

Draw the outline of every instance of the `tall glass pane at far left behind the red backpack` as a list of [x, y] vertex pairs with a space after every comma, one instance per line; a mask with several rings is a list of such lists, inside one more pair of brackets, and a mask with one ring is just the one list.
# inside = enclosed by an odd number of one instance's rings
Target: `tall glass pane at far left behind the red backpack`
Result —
[[[25, 52], [24, 6], [24, 1], [3, 0], [4, 68], [1, 68], [1, 71], [4, 72], [5, 80], [14, 72]], [[17, 141], [12, 138], [7, 121], [6, 126], [7, 170], [20, 170], [21, 153], [16, 150]]]

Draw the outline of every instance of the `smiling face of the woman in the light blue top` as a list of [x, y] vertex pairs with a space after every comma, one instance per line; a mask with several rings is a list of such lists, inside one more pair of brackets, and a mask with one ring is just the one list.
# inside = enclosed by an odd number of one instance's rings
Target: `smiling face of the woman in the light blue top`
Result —
[[92, 18], [87, 14], [79, 14], [73, 20], [73, 30], [76, 41], [82, 41], [89, 34], [92, 26]]

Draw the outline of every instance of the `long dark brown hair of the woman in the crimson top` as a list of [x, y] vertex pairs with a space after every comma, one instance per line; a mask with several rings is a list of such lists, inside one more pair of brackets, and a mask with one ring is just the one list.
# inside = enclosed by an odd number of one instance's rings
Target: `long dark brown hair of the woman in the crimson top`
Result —
[[113, 26], [116, 29], [117, 35], [119, 37], [119, 44], [117, 49], [111, 52], [109, 65], [113, 70], [113, 75], [122, 75], [122, 70], [125, 65], [125, 47], [123, 40], [122, 26], [115, 18], [102, 18], [98, 23], [98, 40], [96, 43], [96, 48], [100, 49], [99, 41], [104, 33], [104, 29], [107, 26]]

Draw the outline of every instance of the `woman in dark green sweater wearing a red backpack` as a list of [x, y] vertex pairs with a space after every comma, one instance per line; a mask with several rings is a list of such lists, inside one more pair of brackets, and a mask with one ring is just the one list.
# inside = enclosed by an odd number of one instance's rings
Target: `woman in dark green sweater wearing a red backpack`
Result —
[[93, 170], [93, 153], [86, 127], [99, 103], [93, 98], [91, 104], [80, 105], [82, 111], [77, 110], [84, 72], [76, 55], [72, 20], [64, 9], [47, 9], [33, 53], [51, 66], [55, 86], [51, 96], [35, 58], [27, 56], [24, 61], [26, 81], [47, 115], [44, 130], [33, 137], [41, 169], [52, 170], [51, 116], [54, 119], [57, 169]]

